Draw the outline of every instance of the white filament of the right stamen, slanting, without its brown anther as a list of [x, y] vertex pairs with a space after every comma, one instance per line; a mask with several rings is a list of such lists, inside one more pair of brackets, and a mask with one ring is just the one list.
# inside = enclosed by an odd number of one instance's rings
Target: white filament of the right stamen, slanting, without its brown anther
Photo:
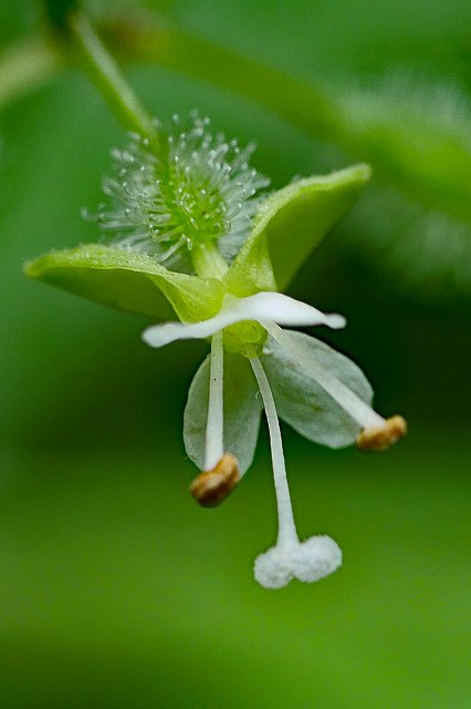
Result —
[[363, 429], [385, 430], [387, 421], [374, 411], [352, 389], [339, 379], [331, 374], [318, 362], [307, 357], [303, 348], [289, 332], [282, 330], [275, 322], [263, 322], [263, 327], [282, 347], [286, 348], [301, 367], [316, 380], [318, 384], [354, 419]]

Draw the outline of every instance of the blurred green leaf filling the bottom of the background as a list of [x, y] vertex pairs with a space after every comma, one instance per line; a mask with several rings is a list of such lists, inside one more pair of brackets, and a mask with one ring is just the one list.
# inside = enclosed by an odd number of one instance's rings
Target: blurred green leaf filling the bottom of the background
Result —
[[268, 452], [213, 511], [171, 441], [2, 460], [2, 706], [464, 708], [465, 439], [416, 431], [380, 458], [285, 443], [302, 533], [332, 533], [345, 563], [282, 592], [251, 568], [274, 532]]

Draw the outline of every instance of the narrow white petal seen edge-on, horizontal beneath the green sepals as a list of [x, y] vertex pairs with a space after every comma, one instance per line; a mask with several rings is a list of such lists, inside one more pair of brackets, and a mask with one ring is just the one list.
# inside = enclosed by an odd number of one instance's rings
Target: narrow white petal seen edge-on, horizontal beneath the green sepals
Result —
[[325, 315], [301, 300], [281, 292], [258, 292], [248, 298], [231, 298], [213, 318], [201, 322], [166, 322], [147, 328], [143, 340], [150, 347], [163, 347], [174, 340], [210, 337], [218, 330], [243, 320], [273, 321], [279, 325], [310, 326], [327, 325], [331, 328], [345, 326], [345, 318], [337, 314]]

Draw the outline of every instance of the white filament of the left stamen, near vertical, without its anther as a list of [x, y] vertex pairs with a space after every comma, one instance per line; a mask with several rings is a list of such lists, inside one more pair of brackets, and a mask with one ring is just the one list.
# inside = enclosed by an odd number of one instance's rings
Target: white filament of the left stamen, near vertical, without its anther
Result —
[[211, 339], [211, 369], [209, 374], [208, 423], [206, 427], [205, 470], [211, 471], [221, 460], [223, 449], [223, 368], [222, 331]]

